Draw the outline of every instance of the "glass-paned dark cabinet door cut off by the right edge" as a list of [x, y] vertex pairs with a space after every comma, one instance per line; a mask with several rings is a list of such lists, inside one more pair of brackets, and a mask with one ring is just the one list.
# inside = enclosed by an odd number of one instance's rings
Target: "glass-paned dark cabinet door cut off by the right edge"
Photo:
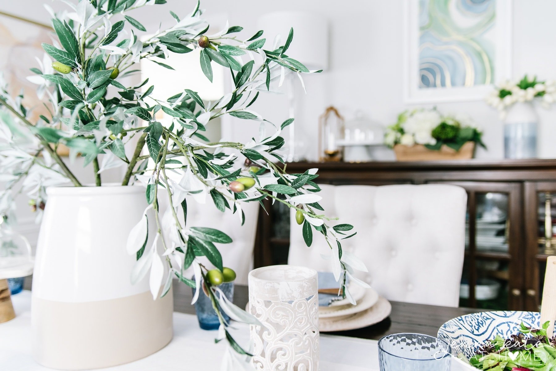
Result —
[[556, 255], [556, 184], [525, 183], [527, 249], [524, 275], [526, 308], [540, 310], [547, 257]]

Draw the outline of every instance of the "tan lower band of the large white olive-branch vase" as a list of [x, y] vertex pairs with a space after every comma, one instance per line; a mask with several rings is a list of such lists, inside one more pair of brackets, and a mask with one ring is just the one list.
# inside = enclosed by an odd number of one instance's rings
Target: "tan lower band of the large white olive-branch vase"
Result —
[[33, 357], [44, 367], [82, 370], [147, 357], [172, 340], [170, 291], [126, 298], [62, 303], [32, 299]]

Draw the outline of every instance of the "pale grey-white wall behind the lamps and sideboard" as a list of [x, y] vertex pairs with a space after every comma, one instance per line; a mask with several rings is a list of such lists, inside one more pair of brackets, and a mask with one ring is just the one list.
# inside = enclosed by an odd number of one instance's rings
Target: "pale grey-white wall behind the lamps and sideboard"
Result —
[[[346, 117], [353, 117], [356, 110], [389, 125], [396, 115], [406, 108], [403, 101], [403, 7], [406, 0], [204, 0], [209, 21], [230, 20], [230, 25], [245, 29], [240, 36], [250, 37], [257, 31], [257, 18], [261, 14], [298, 9], [321, 13], [331, 24], [331, 53], [329, 71], [307, 76], [307, 95], [300, 87], [296, 90], [297, 129], [306, 138], [304, 146], [311, 159], [316, 158], [317, 118], [328, 105], [334, 105]], [[416, 1], [416, 0], [413, 0]], [[499, 0], [510, 1], [510, 0]], [[48, 14], [42, 4], [55, 9], [66, 7], [62, 2], [46, 0], [19, 0], [0, 2], [0, 11], [17, 14], [48, 23]], [[191, 11], [194, 0], [168, 0], [168, 4], [140, 9], [133, 15], [148, 29], [173, 24], [169, 10], [183, 15]], [[556, 78], [556, 32], [553, 14], [556, 2], [552, 0], [513, 0], [513, 76], [525, 73], [541, 79]], [[287, 29], [284, 31], [287, 32]], [[294, 43], [310, 43], [299, 40]], [[295, 56], [294, 56], [295, 57]], [[484, 130], [488, 151], [479, 149], [477, 157], [499, 159], [503, 157], [502, 124], [497, 112], [483, 101], [441, 103], [440, 110], [465, 112], [474, 117]], [[266, 118], [281, 122], [287, 118], [285, 96], [259, 98], [252, 106]], [[556, 111], [538, 108], [540, 116], [539, 155], [556, 157]], [[230, 122], [231, 121], [231, 122]], [[222, 132], [229, 140], [248, 140], [256, 133], [257, 125], [245, 120], [223, 122]], [[287, 135], [285, 135], [287, 138]], [[84, 174], [87, 170], [77, 170]], [[86, 180], [87, 181], [87, 180]], [[24, 202], [21, 202], [22, 207]], [[26, 220], [30, 215], [24, 214]]]

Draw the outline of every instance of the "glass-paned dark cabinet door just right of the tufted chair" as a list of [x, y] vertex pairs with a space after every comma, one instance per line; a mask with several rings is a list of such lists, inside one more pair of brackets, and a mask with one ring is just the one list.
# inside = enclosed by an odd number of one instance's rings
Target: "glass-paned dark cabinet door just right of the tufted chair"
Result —
[[493, 310], [520, 309], [519, 184], [449, 182], [468, 192], [465, 259], [460, 306]]

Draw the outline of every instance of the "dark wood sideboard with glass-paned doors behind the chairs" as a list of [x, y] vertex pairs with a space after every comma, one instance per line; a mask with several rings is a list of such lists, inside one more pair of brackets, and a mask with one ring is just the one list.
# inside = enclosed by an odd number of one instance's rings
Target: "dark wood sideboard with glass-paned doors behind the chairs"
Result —
[[[323, 184], [430, 184], [468, 192], [460, 305], [538, 310], [548, 255], [556, 255], [556, 160], [464, 160], [287, 164], [319, 168]], [[289, 212], [280, 202], [260, 212], [255, 267], [285, 264]]]

